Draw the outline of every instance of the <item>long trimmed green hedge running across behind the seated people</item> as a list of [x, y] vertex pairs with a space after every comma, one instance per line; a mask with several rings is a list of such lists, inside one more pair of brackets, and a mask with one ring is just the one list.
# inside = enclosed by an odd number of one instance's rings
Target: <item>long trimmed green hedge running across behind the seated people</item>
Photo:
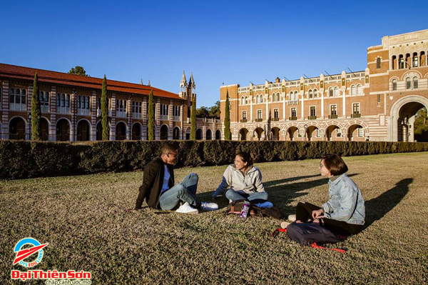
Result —
[[[428, 151], [428, 143], [360, 141], [172, 141], [177, 166], [223, 165], [236, 151], [248, 151], [255, 162], [317, 159], [322, 154], [357, 156]], [[163, 141], [97, 141], [88, 143], [0, 141], [0, 179], [91, 174], [143, 169], [158, 156]]]

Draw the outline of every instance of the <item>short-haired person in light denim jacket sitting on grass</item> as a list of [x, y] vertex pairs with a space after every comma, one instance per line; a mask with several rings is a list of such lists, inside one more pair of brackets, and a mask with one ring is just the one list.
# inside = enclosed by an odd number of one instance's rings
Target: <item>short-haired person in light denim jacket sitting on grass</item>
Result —
[[[358, 186], [347, 176], [345, 161], [337, 154], [322, 156], [320, 172], [328, 177], [330, 200], [322, 207], [307, 202], [299, 202], [296, 214], [288, 216], [295, 223], [320, 223], [334, 234], [350, 236], [357, 234], [365, 223], [364, 199]], [[286, 229], [290, 223], [282, 222]]]

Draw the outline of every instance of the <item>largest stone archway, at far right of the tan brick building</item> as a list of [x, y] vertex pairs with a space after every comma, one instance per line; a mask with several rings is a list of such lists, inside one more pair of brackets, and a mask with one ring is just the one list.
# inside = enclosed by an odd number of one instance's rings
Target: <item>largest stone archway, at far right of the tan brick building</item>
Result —
[[[405, 105], [407, 105], [406, 108], [402, 109]], [[392, 124], [389, 124], [388, 141], [403, 141], [405, 138], [408, 138], [408, 141], [414, 140], [414, 114], [416, 114], [421, 106], [427, 108], [428, 99], [419, 95], [402, 97], [392, 105], [389, 113]], [[408, 126], [411, 127], [408, 128]], [[404, 134], [403, 131], [406, 131], [407, 134]]]

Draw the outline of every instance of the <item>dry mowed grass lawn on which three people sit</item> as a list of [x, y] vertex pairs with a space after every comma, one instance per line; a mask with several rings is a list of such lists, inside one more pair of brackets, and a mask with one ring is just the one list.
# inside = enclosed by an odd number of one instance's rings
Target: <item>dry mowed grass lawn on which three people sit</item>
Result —
[[[91, 271], [93, 284], [427, 284], [428, 153], [344, 159], [367, 211], [364, 231], [329, 246], [346, 254], [271, 237], [280, 221], [225, 216], [225, 199], [198, 215], [128, 213], [143, 172], [0, 181], [1, 284], [27, 270], [12, 262], [28, 236], [49, 243], [34, 269]], [[285, 214], [327, 201], [319, 162], [258, 164], [270, 201]], [[175, 179], [197, 173], [210, 201], [225, 167], [176, 169]]]

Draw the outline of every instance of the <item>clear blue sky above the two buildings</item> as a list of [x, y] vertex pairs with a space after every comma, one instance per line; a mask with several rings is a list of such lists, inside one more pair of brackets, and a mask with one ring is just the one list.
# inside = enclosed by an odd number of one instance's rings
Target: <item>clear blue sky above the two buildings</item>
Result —
[[221, 84], [364, 70], [382, 36], [428, 29], [426, 1], [3, 1], [0, 62], [147, 84], [198, 106]]

